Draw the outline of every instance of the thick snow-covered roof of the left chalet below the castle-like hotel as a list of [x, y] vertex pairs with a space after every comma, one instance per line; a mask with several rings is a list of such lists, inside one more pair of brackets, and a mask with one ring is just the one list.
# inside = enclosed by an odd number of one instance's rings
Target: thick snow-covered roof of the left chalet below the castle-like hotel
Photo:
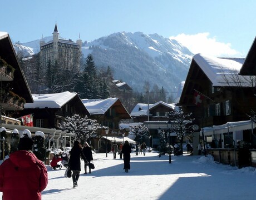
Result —
[[61, 108], [77, 94], [74, 92], [61, 92], [53, 94], [32, 94], [33, 103], [25, 103], [24, 108]]

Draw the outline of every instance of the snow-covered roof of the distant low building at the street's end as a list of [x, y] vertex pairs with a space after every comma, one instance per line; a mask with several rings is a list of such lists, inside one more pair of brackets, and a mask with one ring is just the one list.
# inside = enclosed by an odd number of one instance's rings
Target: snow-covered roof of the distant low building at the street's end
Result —
[[137, 103], [134, 109], [131, 111], [131, 116], [147, 116], [147, 107], [149, 106], [149, 110], [158, 106], [159, 104], [163, 104], [166, 107], [171, 109], [175, 109], [175, 103], [165, 103], [163, 101], [156, 102], [155, 104], [146, 104], [146, 103]]

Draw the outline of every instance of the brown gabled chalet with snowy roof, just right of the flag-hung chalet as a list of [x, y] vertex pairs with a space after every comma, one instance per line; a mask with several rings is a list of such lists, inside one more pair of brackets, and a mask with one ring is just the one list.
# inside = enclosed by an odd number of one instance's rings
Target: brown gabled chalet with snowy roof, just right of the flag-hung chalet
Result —
[[[119, 123], [122, 120], [131, 119], [131, 116], [119, 98], [82, 99], [82, 102], [90, 113], [91, 119], [96, 119], [97, 123], [101, 124], [101, 126], [109, 127], [107, 135], [104, 129], [100, 129], [99, 132], [91, 136], [93, 139], [92, 145], [99, 152], [105, 152], [106, 136], [109, 137], [107, 142], [110, 144], [107, 147], [110, 150], [111, 142], [128, 135], [126, 131], [119, 129]], [[111, 138], [116, 139], [112, 141]]]

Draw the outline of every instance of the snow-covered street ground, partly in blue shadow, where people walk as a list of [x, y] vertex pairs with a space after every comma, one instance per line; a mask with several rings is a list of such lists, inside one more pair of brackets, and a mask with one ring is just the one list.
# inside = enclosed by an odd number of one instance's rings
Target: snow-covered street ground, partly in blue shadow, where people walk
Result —
[[[42, 192], [43, 200], [84, 199], [208, 199], [253, 200], [256, 196], [254, 167], [238, 169], [218, 164], [211, 156], [162, 155], [146, 152], [146, 156], [131, 153], [131, 169], [125, 173], [124, 162], [117, 155], [93, 153], [95, 169], [81, 176], [78, 187], [72, 178], [65, 178], [65, 167], [48, 170], [48, 186]], [[88, 172], [88, 169], [87, 169]], [[2, 193], [0, 193], [0, 198]]]

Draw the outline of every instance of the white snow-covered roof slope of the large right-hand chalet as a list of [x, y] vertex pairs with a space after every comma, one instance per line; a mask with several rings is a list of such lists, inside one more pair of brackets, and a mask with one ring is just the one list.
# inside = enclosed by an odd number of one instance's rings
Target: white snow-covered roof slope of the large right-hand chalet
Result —
[[[203, 54], [196, 54], [194, 61], [210, 79], [213, 86], [238, 86], [237, 74], [244, 63], [244, 58], [216, 58]], [[239, 77], [239, 84], [243, 87], [251, 87], [252, 83], [247, 81], [248, 76]]]

